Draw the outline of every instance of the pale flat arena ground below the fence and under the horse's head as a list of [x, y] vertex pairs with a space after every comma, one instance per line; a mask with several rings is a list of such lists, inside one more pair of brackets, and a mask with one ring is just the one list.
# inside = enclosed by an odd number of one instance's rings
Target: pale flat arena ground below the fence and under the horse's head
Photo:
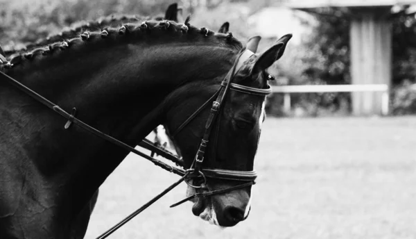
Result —
[[[184, 184], [109, 238], [416, 238], [416, 117], [268, 118], [250, 217], [220, 229], [177, 208]], [[96, 238], [177, 176], [128, 156], [101, 187]]]

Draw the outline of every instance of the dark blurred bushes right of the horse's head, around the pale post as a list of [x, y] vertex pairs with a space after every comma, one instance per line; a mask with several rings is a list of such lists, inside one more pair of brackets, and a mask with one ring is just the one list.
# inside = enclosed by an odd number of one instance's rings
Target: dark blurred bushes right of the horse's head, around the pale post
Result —
[[[392, 21], [392, 113], [416, 113], [415, 97], [409, 90], [410, 83], [416, 82], [416, 18], [404, 6], [391, 16]], [[288, 84], [349, 84], [349, 22], [350, 13], [344, 8], [322, 8], [310, 12], [318, 24], [311, 35], [295, 49], [288, 49], [286, 60], [275, 67], [279, 76], [288, 78]], [[387, 49], [388, 50], [388, 49]], [[270, 104], [281, 104], [281, 96], [275, 96]], [[341, 114], [350, 110], [350, 96], [345, 93], [293, 95], [295, 108], [301, 108], [305, 115], [323, 113]], [[270, 112], [283, 115], [281, 110]]]

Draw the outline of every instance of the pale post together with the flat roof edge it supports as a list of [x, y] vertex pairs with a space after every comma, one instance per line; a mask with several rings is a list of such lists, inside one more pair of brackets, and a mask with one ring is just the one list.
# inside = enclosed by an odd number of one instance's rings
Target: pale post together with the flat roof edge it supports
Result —
[[[297, 10], [344, 7], [353, 13], [350, 28], [352, 84], [387, 84], [392, 81], [392, 6], [415, 4], [416, 0], [286, 0], [284, 6]], [[381, 112], [377, 92], [352, 93], [355, 115]]]

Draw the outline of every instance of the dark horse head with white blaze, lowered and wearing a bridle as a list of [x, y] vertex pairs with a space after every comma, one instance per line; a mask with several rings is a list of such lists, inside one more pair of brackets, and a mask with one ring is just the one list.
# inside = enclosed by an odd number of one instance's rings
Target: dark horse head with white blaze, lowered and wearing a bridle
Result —
[[[198, 154], [204, 151], [203, 158], [200, 158], [203, 160], [202, 169], [229, 170], [236, 174], [254, 172], [254, 156], [266, 117], [265, 99], [270, 92], [268, 80], [272, 79], [267, 69], [281, 58], [290, 39], [291, 35], [285, 35], [270, 49], [255, 53], [260, 38], [251, 38], [227, 73], [229, 82], [221, 77], [214, 81], [193, 81], [169, 95], [164, 125], [180, 149], [185, 167], [196, 167]], [[218, 95], [223, 97], [219, 100], [220, 106], [210, 108], [211, 104], [218, 104]], [[218, 110], [217, 117], [211, 117], [212, 110]], [[205, 138], [208, 127], [212, 132]], [[201, 187], [194, 186], [201, 183]], [[224, 190], [239, 184], [239, 176], [230, 180], [199, 177], [189, 184], [187, 195], [198, 190]], [[213, 224], [234, 226], [248, 217], [251, 196], [250, 185], [212, 197], [197, 198], [193, 200], [192, 212]]]

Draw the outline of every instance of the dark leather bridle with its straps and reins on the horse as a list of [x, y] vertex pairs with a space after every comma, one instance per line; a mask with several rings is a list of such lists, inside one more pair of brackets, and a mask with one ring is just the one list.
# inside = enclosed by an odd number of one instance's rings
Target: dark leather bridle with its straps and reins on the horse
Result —
[[[5, 74], [1, 71], [0, 71], [0, 79], [6, 80], [9, 83], [11, 83], [12, 85], [15, 85], [15, 87], [19, 88], [19, 90], [22, 90], [23, 92], [30, 95], [31, 97], [33, 97], [34, 99], [36, 99], [40, 103], [44, 104], [48, 108], [51, 108], [56, 113], [62, 115], [62, 117], [64, 117], [64, 118], [66, 118], [68, 121], [67, 121], [67, 124], [65, 124], [64, 129], [69, 129], [71, 124], [76, 124], [76, 125], [80, 126], [80, 128], [83, 128], [86, 131], [89, 131], [90, 133], [93, 133], [94, 135], [97, 135], [98, 137], [103, 138], [104, 140], [112, 142], [114, 145], [122, 147], [123, 149], [126, 149], [126, 150], [128, 150], [128, 151], [130, 151], [134, 154], [137, 154], [137, 155], [139, 155], [143, 158], [146, 158], [146, 159], [150, 160], [152, 163], [154, 163], [155, 165], [157, 165], [159, 167], [162, 167], [164, 170], [167, 170], [169, 172], [173, 172], [174, 174], [177, 174], [177, 175], [181, 176], [181, 178], [178, 181], [176, 181], [171, 186], [166, 188], [166, 190], [164, 190], [162, 193], [160, 193], [159, 195], [157, 195], [156, 197], [154, 197], [153, 199], [148, 201], [148, 203], [144, 204], [144, 206], [141, 206], [141, 208], [137, 209], [137, 211], [133, 212], [128, 217], [126, 217], [124, 220], [122, 220], [121, 222], [119, 222], [118, 224], [116, 224], [111, 229], [109, 229], [108, 231], [106, 231], [105, 233], [103, 233], [101, 236], [98, 237], [98, 238], [101, 239], [101, 238], [107, 238], [107, 236], [110, 236], [111, 233], [113, 233], [114, 231], [119, 229], [123, 224], [125, 224], [126, 222], [131, 220], [133, 217], [135, 217], [136, 215], [138, 215], [139, 213], [144, 211], [146, 208], [148, 208], [148, 206], [150, 206], [155, 201], [157, 201], [157, 199], [161, 198], [167, 192], [169, 192], [170, 190], [175, 188], [182, 181], [185, 181], [189, 186], [191, 186], [193, 188], [202, 188], [202, 189], [207, 189], [206, 188], [207, 179], [225, 179], [225, 180], [231, 180], [231, 181], [242, 181], [242, 182], [246, 182], [246, 183], [241, 183], [237, 186], [233, 186], [233, 187], [230, 187], [230, 188], [224, 188], [224, 189], [220, 189], [220, 190], [211, 190], [211, 191], [206, 191], [206, 192], [198, 192], [198, 193], [195, 193], [194, 195], [191, 195], [191, 196], [177, 202], [176, 204], [171, 205], [171, 207], [178, 206], [178, 205], [184, 203], [185, 201], [189, 201], [190, 199], [193, 199], [193, 198], [196, 198], [196, 197], [203, 197], [203, 198], [204, 197], [210, 197], [212, 195], [219, 195], [219, 194], [223, 194], [225, 192], [230, 192], [232, 190], [237, 190], [237, 189], [241, 189], [241, 188], [245, 188], [245, 187], [254, 185], [254, 180], [257, 178], [257, 172], [255, 172], [254, 170], [252, 170], [252, 171], [236, 171], [236, 170], [208, 169], [208, 168], [202, 167], [202, 163], [204, 161], [204, 156], [205, 156], [205, 150], [206, 150], [206, 148], [208, 146], [208, 143], [209, 143], [209, 137], [211, 135], [211, 131], [213, 130], [213, 126], [214, 126], [215, 122], [219, 122], [219, 120], [216, 120], [216, 119], [218, 119], [218, 115], [220, 113], [221, 106], [223, 106], [223, 101], [225, 100], [227, 92], [229, 92], [229, 90], [234, 90], [236, 92], [242, 92], [242, 93], [245, 93], [245, 94], [254, 94], [254, 95], [259, 95], [259, 96], [263, 96], [263, 97], [266, 97], [266, 95], [270, 94], [270, 92], [271, 92], [269, 85], [268, 85], [268, 88], [266, 88], [266, 89], [260, 89], [260, 88], [252, 88], [252, 87], [248, 87], [248, 86], [245, 86], [245, 85], [239, 85], [239, 84], [236, 84], [236, 83], [232, 83], [232, 79], [234, 78], [234, 73], [236, 72], [236, 69], [239, 69], [243, 65], [245, 60], [250, 58], [250, 56], [252, 56], [253, 54], [254, 53], [252, 51], [248, 50], [248, 49], [243, 51], [243, 53], [241, 53], [239, 58], [237, 58], [236, 63], [234, 63], [234, 65], [232, 67], [232, 70], [229, 72], [229, 74], [227, 74], [227, 76], [225, 76], [225, 79], [220, 84], [220, 88], [216, 91], [216, 93], [212, 97], [210, 97], [205, 102], [205, 104], [200, 106], [200, 108], [198, 108], [190, 117], [188, 117], [177, 128], [177, 130], [171, 135], [171, 137], [175, 137], [175, 135], [177, 135], [177, 133], [179, 133], [184, 128], [184, 126], [189, 124], [189, 122], [191, 122], [191, 120], [194, 117], [196, 117], [196, 115], [198, 115], [203, 109], [205, 109], [211, 103], [211, 101], [213, 101], [215, 99], [214, 102], [212, 103], [211, 111], [209, 113], [207, 123], [205, 124], [205, 133], [202, 137], [202, 140], [201, 140], [200, 145], [198, 147], [198, 151], [197, 151], [196, 156], [193, 160], [193, 163], [192, 163], [191, 167], [188, 170], [184, 170], [184, 168], [181, 168], [181, 167], [173, 167], [171, 165], [168, 165], [168, 164], [162, 162], [161, 160], [153, 158], [152, 156], [148, 156], [147, 154], [144, 154], [143, 152], [138, 151], [137, 149], [135, 149], [133, 147], [130, 147], [130, 145], [126, 145], [125, 143], [123, 143], [119, 140], [116, 140], [115, 138], [112, 138], [110, 135], [107, 135], [107, 134], [105, 134], [101, 131], [98, 131], [97, 129], [94, 129], [92, 126], [89, 126], [88, 124], [82, 122], [80, 119], [75, 117], [76, 108], [73, 108], [71, 114], [67, 113], [67, 111], [60, 108], [60, 106], [58, 106], [56, 104], [53, 104], [53, 102], [51, 102], [48, 99], [42, 97], [40, 94], [37, 94], [37, 92], [35, 92], [35, 91], [31, 90], [30, 88], [26, 87], [25, 85], [21, 84], [19, 81], [16, 81], [15, 79], [12, 79], [10, 76], [8, 76], [7, 74]], [[7, 62], [6, 58], [1, 56], [1, 53], [0, 53], [0, 65], [10, 67], [10, 62]], [[218, 129], [217, 129], [217, 131], [218, 131]], [[217, 133], [216, 136], [218, 136], [218, 133]], [[179, 165], [179, 166], [182, 166], [182, 167], [184, 166], [184, 163], [180, 158], [177, 158], [176, 156], [173, 156], [173, 154], [169, 153], [168, 151], [166, 151], [164, 149], [156, 147], [155, 145], [153, 145], [150, 141], [148, 141], [146, 139], [141, 141], [139, 143], [139, 146], [144, 147], [145, 149], [149, 149], [150, 151], [152, 151], [152, 154], [154, 152], [156, 152], [159, 156], [162, 156], [162, 157], [164, 157], [168, 160], [173, 161], [174, 163], [176, 163], [176, 165]], [[196, 186], [196, 185], [193, 185], [193, 184], [189, 183], [190, 179], [196, 179], [196, 178], [203, 179], [203, 183], [201, 183], [200, 186]]]

